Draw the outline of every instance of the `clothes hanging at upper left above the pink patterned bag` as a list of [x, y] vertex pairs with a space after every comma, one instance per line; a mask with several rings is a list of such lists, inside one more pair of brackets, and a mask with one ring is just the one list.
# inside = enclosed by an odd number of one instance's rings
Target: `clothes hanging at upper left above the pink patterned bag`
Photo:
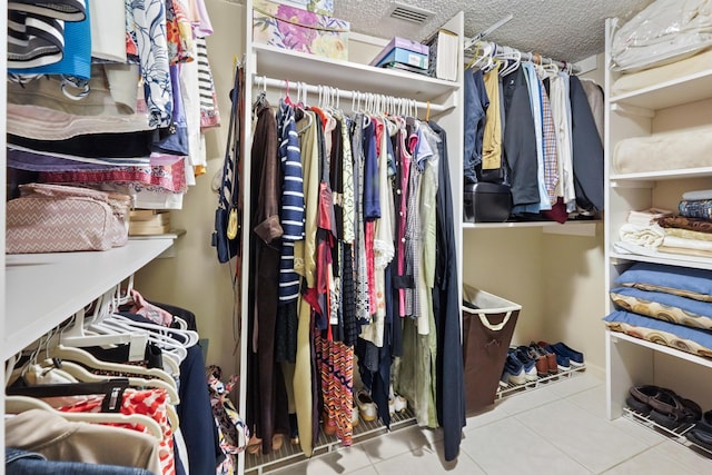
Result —
[[[8, 52], [13, 65], [27, 60], [9, 69], [8, 144], [30, 154], [63, 154], [67, 168], [53, 162], [51, 171], [71, 175], [44, 179], [128, 187], [137, 207], [180, 208], [181, 195], [206, 172], [202, 131], [219, 125], [205, 42], [212, 27], [204, 0], [103, 3], [82, 0], [57, 11], [41, 2], [10, 6], [11, 34], [34, 52]], [[38, 21], [38, 9], [47, 10], [43, 21], [56, 28], [21, 28]], [[42, 48], [42, 41], [57, 48]], [[49, 63], [55, 56], [60, 60]], [[46, 65], [30, 68], [32, 58]], [[120, 170], [85, 177], [75, 175], [71, 162], [152, 161], [152, 154], [174, 155], [182, 170], [155, 168], [147, 179], [146, 170], [134, 168], [140, 165], [123, 162]], [[22, 167], [27, 158], [16, 155], [12, 165]], [[43, 164], [31, 166], [50, 171]]]

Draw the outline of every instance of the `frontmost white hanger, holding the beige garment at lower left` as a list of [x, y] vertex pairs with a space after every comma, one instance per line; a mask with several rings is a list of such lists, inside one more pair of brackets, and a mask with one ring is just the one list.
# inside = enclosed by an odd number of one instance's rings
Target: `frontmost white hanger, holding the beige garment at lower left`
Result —
[[68, 422], [141, 425], [146, 427], [147, 432], [157, 439], [161, 441], [164, 438], [164, 431], [160, 428], [160, 425], [149, 416], [145, 416], [142, 414], [63, 413], [61, 410], [57, 410], [43, 400], [37, 399], [34, 397], [6, 396], [4, 398], [6, 414], [21, 414], [31, 409], [46, 410], [48, 413], [59, 415]]

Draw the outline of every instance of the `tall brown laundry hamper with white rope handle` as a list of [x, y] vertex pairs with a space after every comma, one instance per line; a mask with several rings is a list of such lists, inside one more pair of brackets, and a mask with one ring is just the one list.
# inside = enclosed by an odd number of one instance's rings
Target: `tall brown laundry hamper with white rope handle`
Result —
[[463, 299], [465, 407], [475, 413], [494, 404], [522, 306], [466, 284]]

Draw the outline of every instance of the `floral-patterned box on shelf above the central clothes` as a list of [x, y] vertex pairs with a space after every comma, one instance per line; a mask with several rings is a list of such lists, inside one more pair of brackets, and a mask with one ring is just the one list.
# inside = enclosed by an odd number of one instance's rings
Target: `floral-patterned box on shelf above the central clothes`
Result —
[[348, 59], [348, 21], [269, 0], [255, 0], [253, 41], [317, 55]]

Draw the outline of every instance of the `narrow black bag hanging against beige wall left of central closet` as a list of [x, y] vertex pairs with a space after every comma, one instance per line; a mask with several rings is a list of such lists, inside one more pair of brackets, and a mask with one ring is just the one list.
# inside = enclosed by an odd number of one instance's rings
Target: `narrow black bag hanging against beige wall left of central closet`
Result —
[[230, 123], [228, 129], [222, 175], [218, 189], [218, 207], [215, 210], [215, 230], [211, 245], [217, 248], [218, 261], [225, 264], [239, 254], [240, 212], [238, 161], [240, 155], [240, 115], [244, 110], [243, 68], [235, 69], [235, 85], [230, 91]]

